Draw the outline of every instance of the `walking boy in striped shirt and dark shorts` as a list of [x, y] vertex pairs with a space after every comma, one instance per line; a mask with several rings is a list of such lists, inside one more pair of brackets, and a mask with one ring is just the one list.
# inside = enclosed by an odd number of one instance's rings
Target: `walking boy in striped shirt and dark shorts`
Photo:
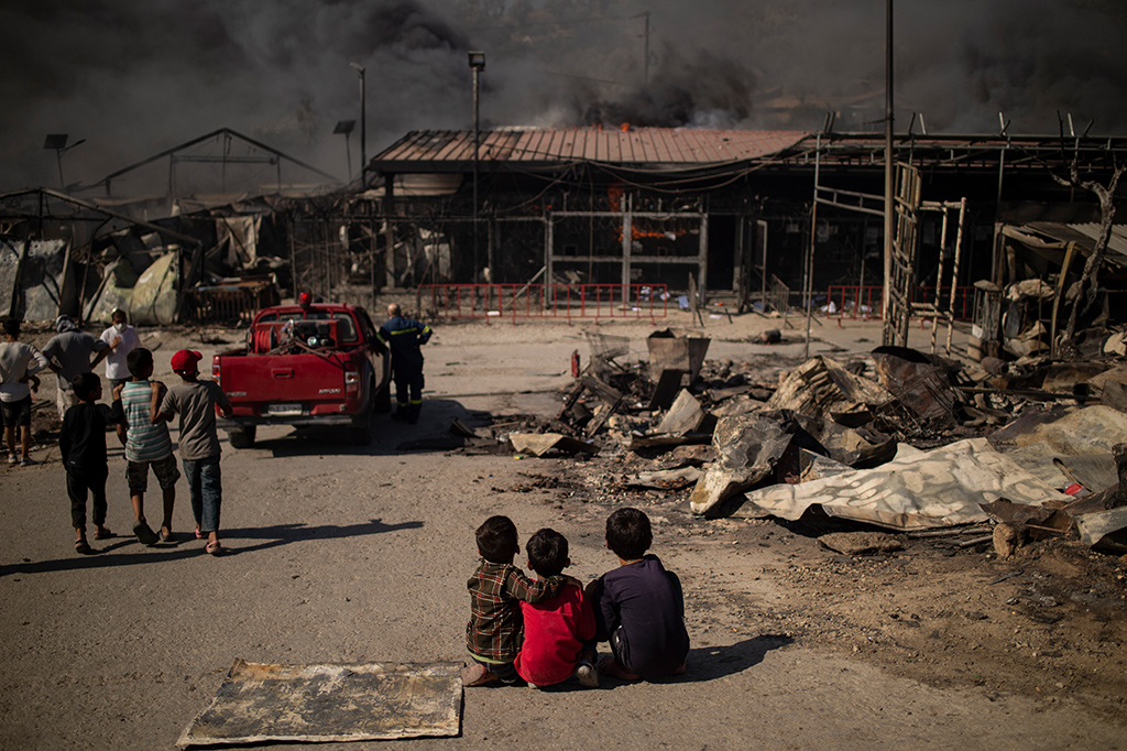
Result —
[[[168, 434], [168, 424], [152, 424], [150, 419], [152, 396], [160, 389], [159, 381], [152, 378], [152, 352], [136, 347], [126, 357], [131, 380], [114, 389], [114, 397], [121, 395], [122, 408], [125, 412], [127, 427], [125, 441], [125, 479], [130, 486], [130, 502], [133, 504], [133, 515], [136, 523], [133, 533], [142, 545], [156, 545], [157, 540], [172, 542], [172, 505], [176, 503], [176, 480], [180, 470], [172, 456], [172, 439]], [[118, 427], [118, 430], [123, 430]], [[165, 501], [165, 516], [160, 522], [160, 537], [152, 531], [144, 518], [144, 493], [149, 487], [149, 469], [157, 476]]]

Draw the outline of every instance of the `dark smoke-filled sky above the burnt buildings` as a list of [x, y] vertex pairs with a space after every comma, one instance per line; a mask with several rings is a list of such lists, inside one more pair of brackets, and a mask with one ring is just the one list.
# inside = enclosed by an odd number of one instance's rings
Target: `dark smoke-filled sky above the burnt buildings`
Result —
[[[896, 11], [902, 126], [922, 112], [932, 133], [993, 133], [1004, 111], [1012, 133], [1056, 133], [1059, 111], [1127, 134], [1127, 2]], [[884, 19], [882, 0], [9, 0], [0, 189], [57, 187], [46, 133], [86, 139], [63, 168], [89, 184], [224, 126], [344, 178], [348, 63], [367, 69], [372, 156], [410, 130], [472, 125], [473, 48], [483, 126], [817, 129], [833, 108], [838, 130], [879, 131]], [[352, 153], [355, 169], [358, 133]]]

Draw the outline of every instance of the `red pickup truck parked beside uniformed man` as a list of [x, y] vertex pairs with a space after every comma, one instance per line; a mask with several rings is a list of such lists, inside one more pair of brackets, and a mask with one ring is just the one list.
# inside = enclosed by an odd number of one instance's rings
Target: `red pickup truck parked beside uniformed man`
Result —
[[372, 414], [391, 408], [391, 356], [357, 306], [275, 306], [255, 316], [247, 344], [215, 355], [212, 377], [231, 400], [220, 419], [231, 445], [255, 443], [258, 425], [346, 427], [372, 441]]

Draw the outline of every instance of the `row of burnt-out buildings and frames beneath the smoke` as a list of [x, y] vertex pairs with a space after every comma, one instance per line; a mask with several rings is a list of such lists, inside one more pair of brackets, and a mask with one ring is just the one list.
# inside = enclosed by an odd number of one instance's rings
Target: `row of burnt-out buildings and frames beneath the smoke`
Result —
[[[46, 286], [60, 291], [57, 310], [83, 318], [104, 315], [99, 288], [127, 281], [118, 257], [143, 271], [131, 244], [142, 260], [178, 254], [180, 319], [245, 319], [258, 302], [246, 288], [270, 274], [283, 293], [301, 286], [338, 302], [373, 302], [385, 286], [491, 285], [473, 304], [500, 307], [531, 285], [619, 286], [629, 302], [660, 284], [701, 299], [735, 295], [745, 310], [890, 308], [886, 343], [904, 343], [913, 315], [974, 318], [983, 354], [1020, 356], [1051, 350], [1093, 257], [1099, 300], [1067, 321], [1071, 333], [1124, 309], [1127, 245], [1112, 215], [1127, 140], [909, 126], [896, 138], [888, 256], [882, 139], [826, 125], [416, 131], [352, 185], [222, 129], [117, 170], [81, 197], [42, 188], [0, 196], [0, 307], [29, 313], [20, 290], [37, 280], [20, 266], [24, 244], [53, 241], [66, 268]], [[211, 183], [198, 162], [218, 171]], [[285, 180], [283, 165], [293, 174]], [[237, 185], [240, 169], [249, 180]], [[1101, 205], [1095, 187], [1111, 187], [1110, 202]], [[1012, 288], [1027, 280], [1047, 286], [1032, 295]], [[68, 286], [80, 292], [62, 294]], [[536, 304], [573, 299], [542, 293]]]

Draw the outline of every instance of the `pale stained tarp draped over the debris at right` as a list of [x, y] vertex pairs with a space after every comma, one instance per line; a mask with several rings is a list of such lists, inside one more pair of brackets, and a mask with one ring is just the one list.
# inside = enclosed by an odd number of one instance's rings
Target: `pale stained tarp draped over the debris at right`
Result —
[[735, 515], [797, 520], [808, 507], [820, 505], [831, 516], [891, 529], [928, 529], [986, 521], [978, 504], [1001, 497], [1030, 505], [1068, 501], [994, 451], [985, 439], [969, 439], [875, 469], [753, 491]]

